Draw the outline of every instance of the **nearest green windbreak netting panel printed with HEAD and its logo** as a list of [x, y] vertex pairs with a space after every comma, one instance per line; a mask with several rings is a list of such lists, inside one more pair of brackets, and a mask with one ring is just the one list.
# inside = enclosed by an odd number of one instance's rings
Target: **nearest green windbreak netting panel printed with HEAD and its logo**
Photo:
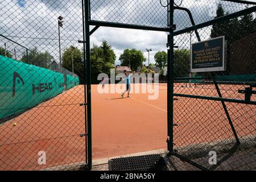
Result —
[[0, 55], [0, 118], [34, 107], [63, 91], [63, 74]]

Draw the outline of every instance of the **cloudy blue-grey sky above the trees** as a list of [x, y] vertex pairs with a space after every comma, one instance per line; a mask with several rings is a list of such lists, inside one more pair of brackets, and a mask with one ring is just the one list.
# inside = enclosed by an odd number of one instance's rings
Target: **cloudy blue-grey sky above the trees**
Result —
[[[251, 0], [255, 1], [256, 0]], [[154, 27], [167, 27], [167, 9], [160, 5], [159, 0], [91, 0], [90, 15], [92, 20], [115, 23], [130, 23]], [[166, 5], [166, 0], [162, 0]], [[175, 0], [176, 5], [180, 0]], [[220, 0], [183, 0], [181, 6], [191, 10], [197, 23], [213, 19]], [[223, 2], [224, 9], [234, 13], [245, 8], [245, 5]], [[0, 34], [22, 44], [25, 47], [38, 47], [39, 51], [48, 51], [59, 62], [59, 41], [57, 17], [64, 17], [63, 28], [60, 28], [61, 52], [74, 45], [82, 49], [77, 40], [82, 39], [82, 9], [81, 0], [2, 0], [0, 2]], [[188, 15], [175, 10], [174, 22], [177, 30], [191, 26]], [[90, 27], [92, 29], [93, 26]], [[201, 39], [209, 39], [210, 27], [199, 30]], [[176, 36], [175, 43], [180, 48], [189, 47], [189, 34]], [[192, 33], [192, 43], [197, 39]], [[17, 59], [24, 48], [14, 45], [0, 37], [0, 46], [7, 43], [7, 48]], [[141, 50], [148, 64], [148, 52], [151, 48], [150, 63], [155, 63], [154, 55], [158, 51], [167, 51], [167, 33], [157, 31], [130, 30], [124, 28], [100, 27], [90, 36], [90, 46], [100, 46], [102, 40], [108, 41], [114, 49], [120, 64], [119, 55], [125, 48]]]

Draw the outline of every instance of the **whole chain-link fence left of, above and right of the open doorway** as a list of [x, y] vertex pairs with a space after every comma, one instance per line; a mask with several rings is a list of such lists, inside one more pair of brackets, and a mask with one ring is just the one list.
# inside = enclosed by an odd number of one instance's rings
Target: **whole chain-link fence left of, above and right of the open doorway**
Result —
[[[0, 2], [1, 170], [88, 163], [85, 48], [77, 42], [84, 40], [84, 2]], [[174, 2], [173, 152], [206, 169], [254, 170], [255, 3]], [[91, 0], [89, 23], [169, 32], [168, 3]], [[250, 8], [254, 13], [188, 28]], [[192, 73], [191, 45], [219, 36], [225, 36], [225, 71]], [[209, 163], [210, 151], [216, 164]]]

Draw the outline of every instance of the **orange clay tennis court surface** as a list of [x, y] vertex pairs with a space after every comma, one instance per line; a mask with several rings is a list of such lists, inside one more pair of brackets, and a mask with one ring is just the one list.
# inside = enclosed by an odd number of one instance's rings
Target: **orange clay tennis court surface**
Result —
[[[100, 94], [97, 86], [92, 85], [93, 159], [166, 148], [166, 85], [159, 85], [157, 100], [148, 100], [148, 93], [131, 93], [131, 98]], [[211, 85], [181, 86], [175, 85], [175, 93], [217, 97]], [[222, 85], [221, 89], [223, 97], [243, 98], [237, 93], [243, 86]], [[0, 169], [54, 169], [84, 163], [85, 137], [80, 134], [85, 133], [85, 112], [81, 103], [84, 86], [79, 85], [1, 124]], [[255, 106], [226, 105], [238, 136], [255, 135]], [[179, 98], [174, 101], [174, 122], [179, 125], [174, 129], [175, 147], [234, 138], [221, 102]], [[46, 165], [38, 164], [40, 151], [46, 152]]]

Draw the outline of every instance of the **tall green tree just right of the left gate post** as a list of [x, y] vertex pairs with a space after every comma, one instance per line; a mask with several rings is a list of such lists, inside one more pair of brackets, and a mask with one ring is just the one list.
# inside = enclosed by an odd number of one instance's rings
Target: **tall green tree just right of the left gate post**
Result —
[[104, 40], [101, 46], [95, 44], [90, 49], [90, 60], [92, 61], [92, 73], [110, 73], [110, 69], [114, 68], [115, 53], [112, 47]]

